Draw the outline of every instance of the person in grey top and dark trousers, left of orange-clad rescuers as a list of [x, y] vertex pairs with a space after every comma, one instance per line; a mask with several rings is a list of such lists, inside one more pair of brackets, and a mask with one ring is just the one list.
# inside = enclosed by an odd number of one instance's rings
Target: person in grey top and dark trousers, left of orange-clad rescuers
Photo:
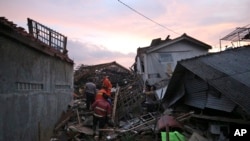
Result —
[[88, 79], [88, 82], [85, 84], [85, 96], [86, 96], [86, 106], [87, 109], [90, 110], [90, 106], [95, 101], [96, 95], [96, 84], [94, 83], [92, 78]]

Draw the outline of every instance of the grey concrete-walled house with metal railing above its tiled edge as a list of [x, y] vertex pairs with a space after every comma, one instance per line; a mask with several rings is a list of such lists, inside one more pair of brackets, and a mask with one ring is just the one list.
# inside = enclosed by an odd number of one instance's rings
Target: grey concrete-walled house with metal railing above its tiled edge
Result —
[[73, 92], [66, 37], [28, 19], [29, 33], [0, 17], [0, 140], [45, 141]]

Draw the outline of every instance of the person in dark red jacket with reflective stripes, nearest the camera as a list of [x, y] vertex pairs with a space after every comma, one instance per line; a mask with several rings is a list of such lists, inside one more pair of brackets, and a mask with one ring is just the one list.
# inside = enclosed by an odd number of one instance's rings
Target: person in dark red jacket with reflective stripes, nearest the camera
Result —
[[108, 95], [106, 93], [102, 94], [102, 99], [96, 100], [91, 108], [94, 111], [93, 114], [93, 130], [96, 136], [99, 134], [101, 138], [101, 132], [98, 132], [98, 129], [104, 128], [108, 121], [111, 120], [111, 105], [108, 103]]

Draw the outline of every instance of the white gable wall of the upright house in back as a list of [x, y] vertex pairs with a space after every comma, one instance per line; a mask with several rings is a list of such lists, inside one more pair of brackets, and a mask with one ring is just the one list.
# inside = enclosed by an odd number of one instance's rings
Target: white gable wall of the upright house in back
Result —
[[[152, 83], [162, 80], [163, 78], [166, 79], [168, 76], [164, 74], [169, 74], [169, 76], [171, 76], [175, 66], [177, 65], [177, 61], [207, 53], [208, 50], [206, 49], [202, 49], [201, 47], [198, 47], [197, 45], [191, 44], [187, 41], [182, 41], [167, 47], [162, 47], [161, 49], [150, 52], [149, 54], [144, 54], [146, 56], [144, 57], [144, 62], [147, 62], [144, 64], [144, 81], [148, 77], [148, 74], [155, 73], [160, 74], [161, 78], [149, 78], [151, 79]], [[165, 58], [161, 58], [160, 54], [164, 54], [162, 56]]]

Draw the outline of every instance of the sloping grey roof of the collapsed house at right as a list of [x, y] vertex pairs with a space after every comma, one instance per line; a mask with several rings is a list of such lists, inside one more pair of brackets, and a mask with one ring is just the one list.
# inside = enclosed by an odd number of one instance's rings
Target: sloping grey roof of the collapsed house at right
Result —
[[179, 61], [168, 85], [167, 97], [178, 88], [187, 70], [250, 114], [250, 46]]

